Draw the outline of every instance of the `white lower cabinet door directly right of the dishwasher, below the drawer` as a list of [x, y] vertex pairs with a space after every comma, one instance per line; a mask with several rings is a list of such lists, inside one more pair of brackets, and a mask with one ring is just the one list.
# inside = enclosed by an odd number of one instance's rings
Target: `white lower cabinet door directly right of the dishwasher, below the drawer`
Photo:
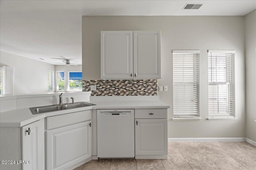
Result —
[[167, 119], [135, 119], [135, 155], [167, 155]]

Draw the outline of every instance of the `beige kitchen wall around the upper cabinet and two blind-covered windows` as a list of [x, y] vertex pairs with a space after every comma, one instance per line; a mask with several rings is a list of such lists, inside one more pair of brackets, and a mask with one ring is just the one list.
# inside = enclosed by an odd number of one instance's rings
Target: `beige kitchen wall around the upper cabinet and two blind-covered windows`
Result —
[[[168, 137], [245, 137], [245, 56], [243, 16], [83, 16], [83, 80], [100, 79], [100, 31], [159, 30], [162, 79], [159, 92], [168, 105]], [[200, 121], [172, 121], [172, 50], [200, 50]], [[235, 54], [236, 117], [208, 121], [207, 50], [231, 49]]]

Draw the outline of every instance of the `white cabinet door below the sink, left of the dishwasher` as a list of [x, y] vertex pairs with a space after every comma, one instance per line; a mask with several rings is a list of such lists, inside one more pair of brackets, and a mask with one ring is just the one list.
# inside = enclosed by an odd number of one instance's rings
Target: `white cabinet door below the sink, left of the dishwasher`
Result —
[[66, 169], [91, 156], [91, 121], [47, 131], [48, 170]]

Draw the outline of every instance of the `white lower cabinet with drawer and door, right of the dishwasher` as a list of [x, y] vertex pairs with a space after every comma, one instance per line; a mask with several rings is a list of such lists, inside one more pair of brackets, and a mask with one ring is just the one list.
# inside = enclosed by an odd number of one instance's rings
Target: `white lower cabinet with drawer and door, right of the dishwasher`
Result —
[[[137, 116], [136, 116], [137, 110]], [[139, 111], [138, 111], [139, 110]], [[158, 111], [159, 110], [159, 111]], [[146, 119], [141, 119], [141, 113]], [[148, 112], [148, 115], [146, 115]], [[136, 159], [167, 159], [168, 132], [167, 119], [156, 119], [162, 115], [162, 109], [135, 109], [135, 158]], [[154, 119], [150, 117], [154, 117]], [[166, 110], [167, 118], [167, 110]]]

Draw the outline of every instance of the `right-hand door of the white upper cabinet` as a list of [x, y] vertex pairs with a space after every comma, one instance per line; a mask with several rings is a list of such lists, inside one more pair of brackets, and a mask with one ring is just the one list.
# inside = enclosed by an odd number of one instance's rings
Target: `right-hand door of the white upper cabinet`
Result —
[[160, 37], [160, 31], [133, 31], [134, 78], [161, 78]]

